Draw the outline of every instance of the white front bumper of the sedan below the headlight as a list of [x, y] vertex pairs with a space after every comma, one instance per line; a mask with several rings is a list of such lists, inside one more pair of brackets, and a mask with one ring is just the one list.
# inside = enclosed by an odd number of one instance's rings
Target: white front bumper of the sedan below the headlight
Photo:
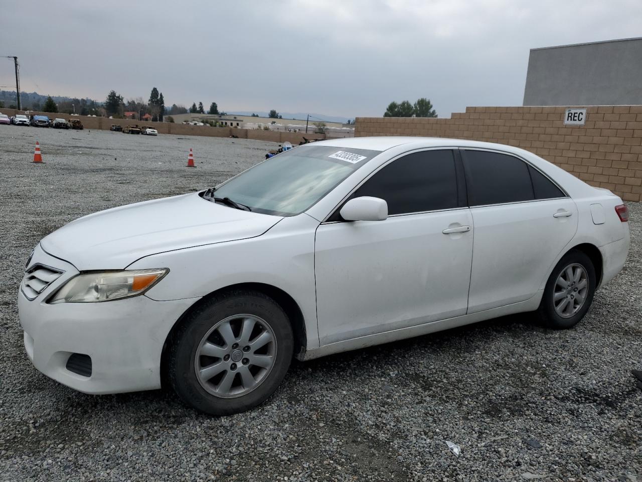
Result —
[[[177, 319], [198, 298], [154, 301], [146, 296], [104, 303], [57, 303], [51, 296], [77, 270], [36, 248], [31, 263], [65, 270], [37, 298], [21, 292], [18, 312], [24, 345], [34, 366], [48, 377], [85, 393], [160, 388], [160, 355]], [[91, 357], [91, 376], [67, 370], [73, 353]]]

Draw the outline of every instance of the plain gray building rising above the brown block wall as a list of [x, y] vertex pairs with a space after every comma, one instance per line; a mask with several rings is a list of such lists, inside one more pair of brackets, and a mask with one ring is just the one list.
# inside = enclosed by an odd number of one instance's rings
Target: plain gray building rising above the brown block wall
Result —
[[523, 105], [642, 104], [642, 37], [531, 49]]

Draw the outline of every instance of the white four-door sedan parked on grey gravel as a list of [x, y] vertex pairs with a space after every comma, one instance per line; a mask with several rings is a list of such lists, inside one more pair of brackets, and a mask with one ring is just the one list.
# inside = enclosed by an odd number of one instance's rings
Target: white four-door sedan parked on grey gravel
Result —
[[[26, 263], [40, 371], [250, 409], [301, 360], [519, 312], [571, 328], [622, 268], [627, 208], [505, 145], [302, 145], [216, 188], [75, 220]], [[560, 350], [562, 348], [560, 347]]]

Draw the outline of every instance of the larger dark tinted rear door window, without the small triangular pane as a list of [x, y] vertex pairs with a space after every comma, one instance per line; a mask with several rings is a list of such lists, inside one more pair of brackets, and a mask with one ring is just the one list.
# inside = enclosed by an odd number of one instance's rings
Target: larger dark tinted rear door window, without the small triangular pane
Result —
[[471, 206], [535, 199], [528, 166], [517, 157], [466, 150], [464, 168]]

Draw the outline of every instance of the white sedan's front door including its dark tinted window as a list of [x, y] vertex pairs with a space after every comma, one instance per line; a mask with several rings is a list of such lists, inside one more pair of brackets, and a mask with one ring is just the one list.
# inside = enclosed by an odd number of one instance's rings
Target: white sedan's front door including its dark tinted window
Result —
[[322, 345], [465, 314], [473, 219], [456, 177], [451, 150], [406, 154], [351, 195], [385, 199], [388, 219], [318, 227]]

